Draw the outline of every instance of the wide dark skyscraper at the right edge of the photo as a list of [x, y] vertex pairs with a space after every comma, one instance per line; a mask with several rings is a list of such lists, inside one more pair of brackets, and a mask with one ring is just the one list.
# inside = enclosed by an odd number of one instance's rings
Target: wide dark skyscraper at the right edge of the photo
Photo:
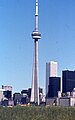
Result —
[[72, 92], [75, 88], [75, 71], [62, 72], [62, 92]]

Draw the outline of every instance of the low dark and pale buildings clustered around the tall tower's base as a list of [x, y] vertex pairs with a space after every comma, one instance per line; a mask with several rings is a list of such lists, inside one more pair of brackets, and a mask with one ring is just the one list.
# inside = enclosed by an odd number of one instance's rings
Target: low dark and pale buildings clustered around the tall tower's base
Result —
[[[0, 106], [27, 105], [30, 103], [30, 98], [31, 88], [22, 90], [21, 93], [14, 94], [12, 94], [12, 86], [2, 85], [2, 88], [0, 89]], [[41, 104], [45, 101], [42, 88], [39, 88], [39, 99]]]

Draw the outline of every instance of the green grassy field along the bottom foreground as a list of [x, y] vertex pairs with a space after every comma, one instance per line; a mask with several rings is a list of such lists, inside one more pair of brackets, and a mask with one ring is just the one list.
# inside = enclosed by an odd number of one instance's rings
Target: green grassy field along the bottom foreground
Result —
[[0, 107], [0, 120], [75, 120], [75, 108]]

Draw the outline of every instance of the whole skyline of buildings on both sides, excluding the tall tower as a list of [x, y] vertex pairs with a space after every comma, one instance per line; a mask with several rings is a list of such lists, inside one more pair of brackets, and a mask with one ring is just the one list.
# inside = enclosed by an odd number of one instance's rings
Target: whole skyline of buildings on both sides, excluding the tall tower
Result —
[[[39, 105], [75, 106], [75, 71], [63, 70], [57, 75], [57, 62], [46, 63], [46, 94], [39, 88]], [[35, 105], [31, 101], [32, 88], [12, 94], [12, 86], [0, 89], [0, 106]]]

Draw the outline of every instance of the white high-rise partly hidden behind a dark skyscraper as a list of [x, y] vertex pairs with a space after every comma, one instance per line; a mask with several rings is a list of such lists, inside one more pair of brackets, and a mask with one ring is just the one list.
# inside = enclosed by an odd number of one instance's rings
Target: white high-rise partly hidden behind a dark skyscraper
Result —
[[57, 62], [46, 63], [46, 96], [48, 94], [49, 77], [57, 77]]

